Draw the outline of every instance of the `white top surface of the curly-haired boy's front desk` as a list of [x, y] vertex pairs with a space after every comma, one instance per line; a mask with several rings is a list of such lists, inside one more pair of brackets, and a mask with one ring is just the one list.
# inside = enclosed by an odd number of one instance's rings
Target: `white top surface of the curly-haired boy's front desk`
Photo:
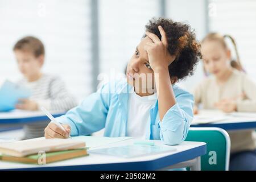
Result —
[[[109, 144], [108, 147], [133, 144], [134, 140], [135, 139], [123, 140], [121, 142]], [[154, 140], [154, 142], [157, 145], [163, 145], [162, 141], [160, 141], [160, 140]], [[39, 168], [39, 167], [61, 167], [61, 166], [80, 166], [80, 165], [84, 166], [84, 165], [90, 165], [90, 164], [111, 164], [111, 163], [120, 163], [121, 164], [121, 163], [130, 163], [130, 162], [147, 162], [150, 160], [164, 158], [165, 156], [174, 155], [179, 152], [188, 151], [193, 148], [201, 147], [201, 146], [205, 146], [205, 145], [206, 144], [203, 142], [183, 142], [177, 146], [171, 146], [171, 147], [175, 147], [177, 149], [176, 151], [165, 152], [162, 154], [141, 156], [141, 157], [137, 157], [137, 158], [128, 158], [128, 159], [118, 158], [115, 156], [90, 154], [90, 150], [88, 150], [89, 156], [64, 160], [61, 162], [49, 163], [46, 165], [22, 164], [22, 163], [11, 163], [11, 162], [0, 161], [0, 169], [18, 169], [18, 168], [31, 168], [32, 169], [32, 168]], [[164, 145], [164, 146], [167, 146], [167, 145]], [[97, 148], [104, 148], [104, 147], [97, 147]], [[187, 157], [187, 154], [185, 156]]]

